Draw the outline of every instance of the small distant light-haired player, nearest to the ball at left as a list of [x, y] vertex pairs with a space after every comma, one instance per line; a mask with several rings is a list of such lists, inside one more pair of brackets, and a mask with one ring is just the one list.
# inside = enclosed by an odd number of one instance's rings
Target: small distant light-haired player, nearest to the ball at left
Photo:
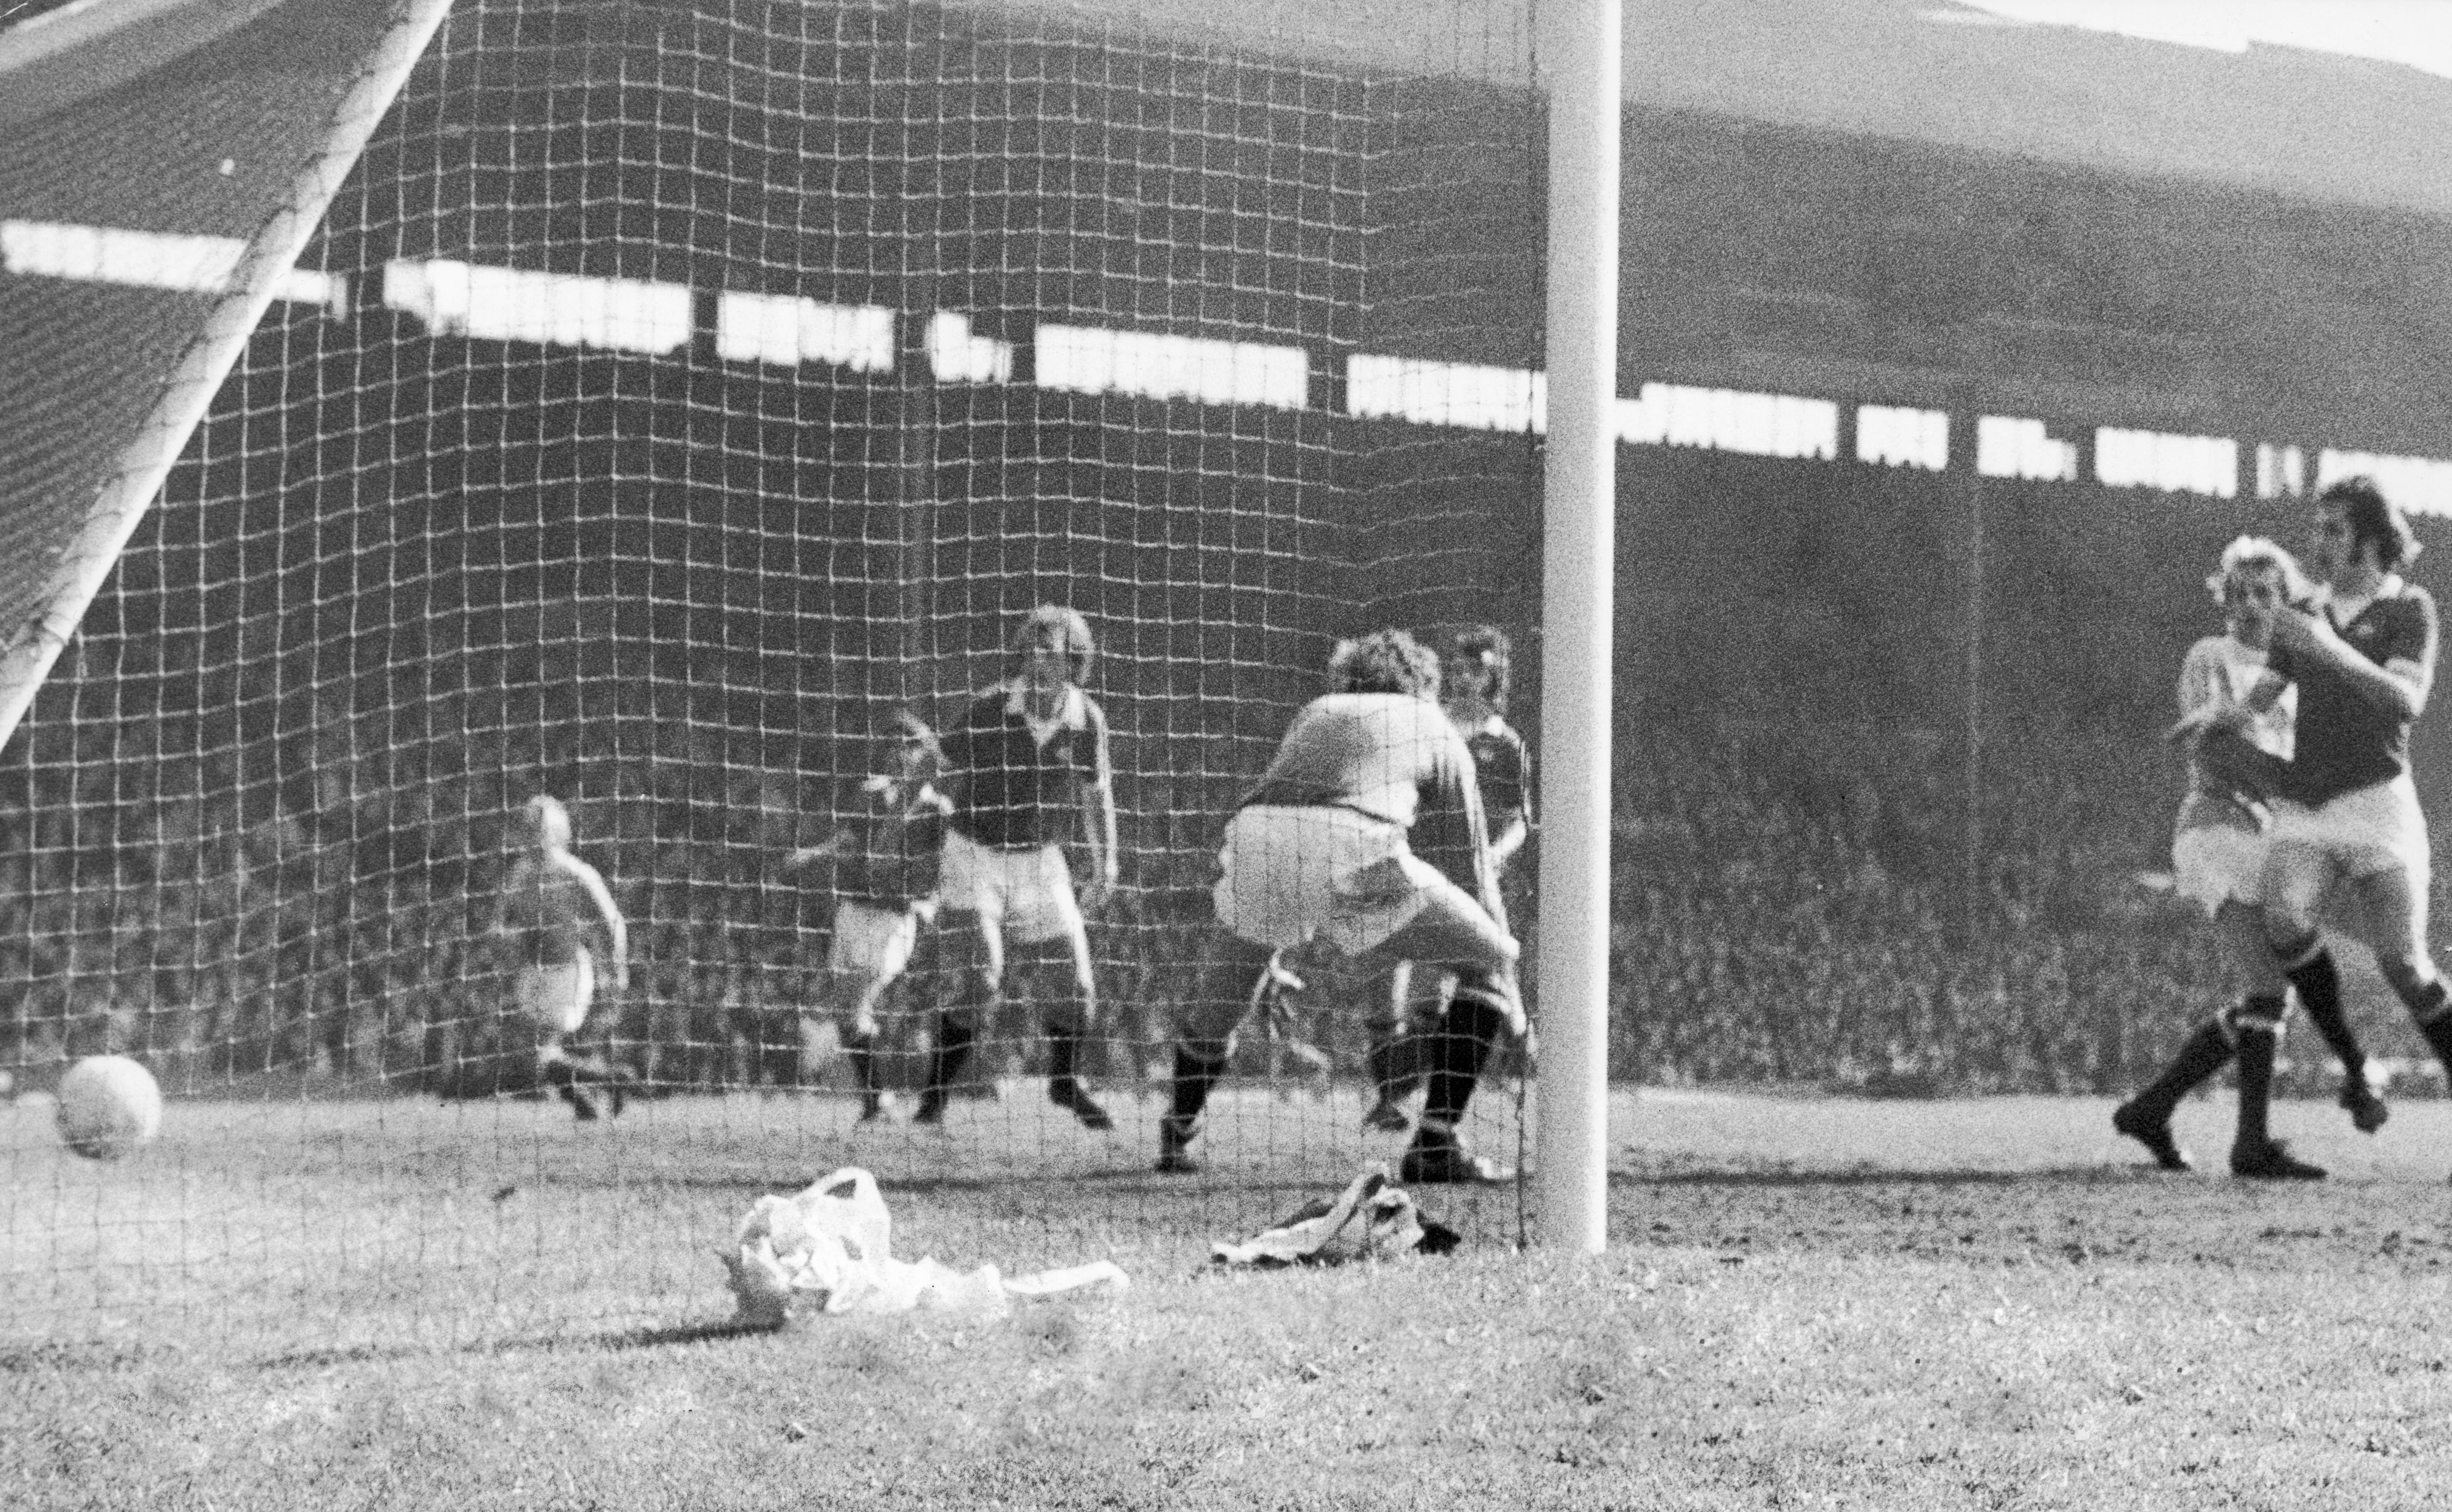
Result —
[[569, 1039], [596, 1005], [591, 939], [603, 941], [613, 990], [620, 992], [630, 985], [630, 934], [603, 875], [571, 855], [571, 814], [562, 799], [530, 799], [522, 828], [520, 860], [503, 880], [495, 934], [517, 963], [510, 997], [535, 1034], [537, 1076], [588, 1122], [598, 1115], [588, 1088], [606, 1088], [611, 1110], [620, 1113], [623, 1088], [638, 1081], [603, 1056], [569, 1051]]

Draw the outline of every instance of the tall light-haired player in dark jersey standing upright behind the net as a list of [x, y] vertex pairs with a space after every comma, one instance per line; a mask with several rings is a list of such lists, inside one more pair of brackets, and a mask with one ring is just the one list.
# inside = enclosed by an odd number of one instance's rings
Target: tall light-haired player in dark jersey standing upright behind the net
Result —
[[[1089, 620], [1079, 613], [1052, 603], [1030, 610], [1013, 635], [1010, 676], [942, 735], [954, 799], [944, 838], [954, 992], [937, 1022], [937, 1054], [912, 1122], [944, 1120], [978, 1029], [1003, 995], [1013, 951], [1035, 978], [1047, 1029], [1047, 1098], [1084, 1127], [1116, 1127], [1081, 1086], [1081, 1039], [1096, 1007], [1084, 904], [1096, 909], [1118, 880], [1106, 713], [1081, 689], [1091, 654]], [[1079, 897], [1067, 838], [1089, 853]]]

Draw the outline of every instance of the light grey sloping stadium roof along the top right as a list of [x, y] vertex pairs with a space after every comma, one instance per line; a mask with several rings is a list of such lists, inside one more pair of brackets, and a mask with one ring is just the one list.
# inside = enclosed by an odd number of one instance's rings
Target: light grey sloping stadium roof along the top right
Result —
[[[1091, 10], [1270, 51], [1525, 78], [1515, 0], [1091, 0]], [[1626, 98], [2119, 174], [2452, 213], [2442, 154], [2452, 142], [2452, 78], [2351, 56], [2364, 49], [2452, 71], [2447, 10], [2378, 0], [1626, 0]], [[2202, 44], [2016, 15], [2160, 27]]]

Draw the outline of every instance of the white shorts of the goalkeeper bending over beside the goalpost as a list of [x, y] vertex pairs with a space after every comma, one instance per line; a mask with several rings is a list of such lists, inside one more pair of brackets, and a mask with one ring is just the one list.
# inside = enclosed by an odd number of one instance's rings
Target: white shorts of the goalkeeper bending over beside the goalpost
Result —
[[1349, 956], [1412, 924], [1447, 880], [1412, 853], [1405, 826], [1329, 806], [1243, 809], [1219, 865], [1219, 924], [1277, 948], [1327, 936]]

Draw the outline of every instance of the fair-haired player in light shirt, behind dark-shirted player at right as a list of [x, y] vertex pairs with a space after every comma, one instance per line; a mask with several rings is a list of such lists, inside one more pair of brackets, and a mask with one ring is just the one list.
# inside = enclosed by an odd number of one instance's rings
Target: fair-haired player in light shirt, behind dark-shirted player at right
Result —
[[[2180, 723], [2175, 735], [2195, 735], [2207, 725], [2236, 718], [2239, 733], [2273, 762], [2293, 752], [2293, 716], [2298, 691], [2280, 689], [2256, 706], [2266, 676], [2266, 647], [2275, 615], [2290, 603], [2307, 603], [2312, 591], [2298, 561], [2261, 537], [2239, 537], [2222, 551], [2222, 564], [2204, 586], [2222, 605], [2226, 632], [2207, 635], [2187, 649], [2180, 664]], [[2239, 711], [2236, 716], [2231, 711]], [[2172, 1064], [2146, 1091], [2111, 1113], [2111, 1127], [2153, 1152], [2168, 1171], [2190, 1169], [2190, 1157], [2170, 1132], [2170, 1115], [2197, 1086], [2239, 1059], [2239, 1130], [2231, 1142], [2231, 1171], [2266, 1179], [2322, 1176], [2268, 1135], [2273, 1054], [2280, 1041], [2288, 983], [2266, 943], [2261, 877], [2271, 811], [2263, 792], [2273, 784], [2241, 787], [2236, 774], [2190, 762], [2187, 796], [2170, 843], [2172, 877], [2180, 897], [2204, 909], [2231, 956], [2246, 995], [2226, 1007], [2180, 1046]], [[2310, 1002], [2307, 1017], [2342, 1059], [2349, 1078], [2342, 1105], [2351, 1122], [2374, 1132], [2383, 1127], [2386, 1105], [2366, 1083], [2366, 1059], [2342, 1015], [2339, 992]]]

